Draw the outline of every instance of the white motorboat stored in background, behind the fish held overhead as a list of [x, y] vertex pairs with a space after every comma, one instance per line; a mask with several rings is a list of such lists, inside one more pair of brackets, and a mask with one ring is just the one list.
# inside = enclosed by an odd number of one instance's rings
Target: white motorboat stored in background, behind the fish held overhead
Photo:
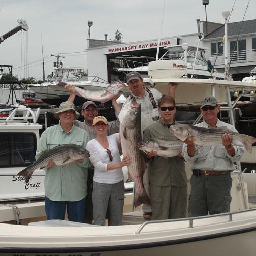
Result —
[[[30, 89], [42, 101], [52, 105], [59, 105], [61, 102], [66, 101], [70, 95], [66, 89], [56, 85], [59, 81], [74, 84], [88, 90], [101, 90], [109, 85], [107, 81], [99, 77], [83, 76], [82, 69], [74, 67], [56, 68], [53, 76], [49, 75], [47, 79], [48, 81], [42, 84], [30, 85]], [[83, 98], [76, 97], [74, 103], [79, 105], [83, 104], [84, 101]]]

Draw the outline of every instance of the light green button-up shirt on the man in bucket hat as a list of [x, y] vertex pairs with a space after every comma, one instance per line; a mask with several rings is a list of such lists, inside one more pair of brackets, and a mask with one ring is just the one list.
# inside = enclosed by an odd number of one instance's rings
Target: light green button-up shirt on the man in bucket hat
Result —
[[[74, 143], [86, 148], [89, 135], [73, 125], [66, 133], [60, 124], [47, 128], [41, 135], [36, 159], [42, 151], [58, 145]], [[82, 162], [72, 162], [69, 166], [54, 165], [45, 168], [45, 196], [53, 201], [79, 201], [87, 195], [87, 167], [89, 158]]]

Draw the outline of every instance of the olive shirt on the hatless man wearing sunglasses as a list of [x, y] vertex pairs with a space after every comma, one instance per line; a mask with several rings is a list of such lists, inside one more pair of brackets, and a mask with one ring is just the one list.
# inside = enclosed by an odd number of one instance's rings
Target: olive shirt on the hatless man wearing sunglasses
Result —
[[[151, 124], [144, 131], [144, 140], [154, 139], [177, 140], [162, 121]], [[183, 158], [179, 156], [164, 158], [156, 155], [149, 159], [148, 163], [150, 184], [154, 186], [187, 186]]]

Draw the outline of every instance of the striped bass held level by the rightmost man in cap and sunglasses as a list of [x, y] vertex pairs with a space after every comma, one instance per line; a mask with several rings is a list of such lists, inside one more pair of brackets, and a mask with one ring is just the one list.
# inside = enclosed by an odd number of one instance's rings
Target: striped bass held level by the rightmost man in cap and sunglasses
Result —
[[225, 126], [216, 128], [203, 128], [189, 124], [171, 125], [171, 132], [180, 140], [184, 141], [188, 135], [191, 136], [194, 143], [198, 146], [212, 146], [222, 143], [222, 135], [228, 133], [232, 135], [233, 140], [243, 143], [246, 150], [251, 153], [251, 146], [256, 142], [256, 138], [231, 131]]

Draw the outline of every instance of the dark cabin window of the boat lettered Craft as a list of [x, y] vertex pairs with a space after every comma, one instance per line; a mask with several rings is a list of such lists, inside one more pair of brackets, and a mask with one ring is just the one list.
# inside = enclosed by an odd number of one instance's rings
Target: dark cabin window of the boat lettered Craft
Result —
[[34, 133], [0, 133], [0, 167], [29, 166], [36, 149]]

